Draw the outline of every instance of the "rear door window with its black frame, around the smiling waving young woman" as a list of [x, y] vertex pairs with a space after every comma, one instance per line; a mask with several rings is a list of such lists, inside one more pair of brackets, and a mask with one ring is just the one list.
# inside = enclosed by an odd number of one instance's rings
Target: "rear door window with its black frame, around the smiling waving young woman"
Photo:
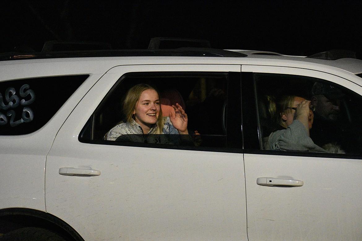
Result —
[[[107, 145], [138, 145], [162, 148], [229, 148], [227, 143], [227, 101], [229, 73], [128, 73], [122, 76], [102, 100], [80, 133], [80, 141]], [[143, 134], [126, 126], [124, 100], [127, 91], [145, 83], [160, 94], [163, 116], [173, 114], [172, 104], [180, 104], [188, 116], [188, 135], [176, 133]], [[240, 73], [239, 73], [240, 83]], [[236, 86], [237, 88], [237, 86]], [[135, 116], [132, 117], [135, 119]], [[169, 122], [169, 121], [168, 121]], [[172, 123], [171, 123], [172, 124]], [[115, 126], [132, 129], [109, 140]], [[157, 145], [155, 145], [157, 144]], [[161, 145], [158, 145], [161, 144]], [[234, 145], [235, 146], [235, 145]], [[178, 148], [177, 147], [177, 148]], [[216, 149], [215, 149], [216, 150]]]

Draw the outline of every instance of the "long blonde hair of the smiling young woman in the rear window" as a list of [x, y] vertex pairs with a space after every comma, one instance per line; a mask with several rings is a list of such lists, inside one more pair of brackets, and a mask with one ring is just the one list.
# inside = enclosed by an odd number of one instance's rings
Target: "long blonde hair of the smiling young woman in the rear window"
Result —
[[[133, 86], [131, 89], [127, 91], [125, 100], [123, 101], [123, 113], [125, 114], [125, 121], [131, 122], [132, 119], [134, 119], [134, 110], [136, 109], [136, 105], [139, 101], [139, 98], [141, 97], [141, 94], [145, 90], [155, 90], [157, 92], [157, 95], [160, 96], [159, 92], [153, 88], [150, 85], [140, 83], [138, 85]], [[157, 118], [157, 128], [156, 132], [152, 134], [162, 134], [163, 130], [163, 116], [162, 116], [162, 109], [160, 107], [159, 116]]]

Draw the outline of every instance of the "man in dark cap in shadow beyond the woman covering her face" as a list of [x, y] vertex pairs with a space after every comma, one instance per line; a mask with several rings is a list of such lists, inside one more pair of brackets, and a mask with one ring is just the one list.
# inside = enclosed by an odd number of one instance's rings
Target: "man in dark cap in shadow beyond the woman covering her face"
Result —
[[341, 120], [340, 107], [345, 94], [327, 83], [315, 82], [312, 87], [311, 104], [315, 107], [313, 128], [310, 137], [316, 145], [333, 144], [340, 146], [346, 153], [355, 154], [361, 146], [354, 138], [353, 130], [348, 123]]

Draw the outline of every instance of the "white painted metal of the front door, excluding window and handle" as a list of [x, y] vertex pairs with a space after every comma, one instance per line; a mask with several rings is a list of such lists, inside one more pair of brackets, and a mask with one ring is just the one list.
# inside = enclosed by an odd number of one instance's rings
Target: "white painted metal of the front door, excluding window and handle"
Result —
[[[247, 66], [253, 73], [294, 74], [325, 79], [358, 94], [362, 88], [315, 70]], [[311, 156], [244, 154], [249, 240], [360, 240], [361, 160]], [[297, 154], [298, 155], [298, 154]], [[301, 180], [303, 186], [257, 185], [258, 177]], [[333, 221], [332, 221], [333, 220]]]

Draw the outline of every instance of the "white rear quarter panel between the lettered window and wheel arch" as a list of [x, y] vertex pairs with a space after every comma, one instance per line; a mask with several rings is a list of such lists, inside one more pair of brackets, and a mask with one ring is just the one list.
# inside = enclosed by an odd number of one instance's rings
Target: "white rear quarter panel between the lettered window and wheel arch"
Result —
[[[37, 71], [37, 75], [41, 76], [41, 69]], [[66, 73], [63, 71], [63, 74]], [[27, 78], [26, 71], [19, 77]], [[89, 77], [87, 83], [84, 83], [55, 116], [36, 132], [18, 136], [0, 135], [0, 208], [24, 207], [46, 211], [46, 155], [64, 121], [99, 78], [96, 74]]]

